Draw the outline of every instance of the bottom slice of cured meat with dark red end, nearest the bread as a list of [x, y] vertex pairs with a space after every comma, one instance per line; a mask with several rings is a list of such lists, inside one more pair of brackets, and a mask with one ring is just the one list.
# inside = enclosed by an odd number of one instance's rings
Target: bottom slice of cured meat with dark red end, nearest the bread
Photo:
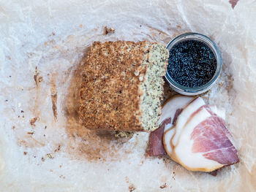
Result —
[[189, 104], [194, 97], [192, 96], [173, 96], [168, 99], [162, 106], [162, 115], [159, 118], [159, 128], [152, 131], [148, 138], [148, 155], [166, 155], [165, 147], [162, 142], [164, 131], [173, 126], [175, 121], [181, 113], [182, 108]]

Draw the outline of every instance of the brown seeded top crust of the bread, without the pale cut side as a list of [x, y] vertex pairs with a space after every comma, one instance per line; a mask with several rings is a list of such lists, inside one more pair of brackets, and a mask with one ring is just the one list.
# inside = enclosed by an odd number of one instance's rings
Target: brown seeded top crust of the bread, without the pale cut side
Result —
[[[83, 126], [109, 131], [152, 131], [143, 127], [140, 104], [141, 85], [148, 69], [145, 64], [153, 45], [157, 43], [94, 42], [84, 62], [80, 88]], [[166, 72], [166, 54], [163, 61]]]

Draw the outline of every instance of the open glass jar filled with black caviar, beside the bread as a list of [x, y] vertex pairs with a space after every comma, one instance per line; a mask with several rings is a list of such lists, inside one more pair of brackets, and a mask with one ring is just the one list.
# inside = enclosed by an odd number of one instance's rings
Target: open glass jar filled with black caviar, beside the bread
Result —
[[165, 79], [174, 91], [195, 96], [208, 91], [222, 70], [217, 45], [203, 34], [181, 34], [167, 45], [170, 51]]

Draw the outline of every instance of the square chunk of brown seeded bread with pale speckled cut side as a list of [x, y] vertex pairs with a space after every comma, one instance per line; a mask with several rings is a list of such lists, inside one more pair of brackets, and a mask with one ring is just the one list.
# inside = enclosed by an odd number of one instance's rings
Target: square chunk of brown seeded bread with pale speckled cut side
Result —
[[94, 42], [84, 61], [80, 121], [86, 128], [154, 131], [169, 52], [152, 42]]

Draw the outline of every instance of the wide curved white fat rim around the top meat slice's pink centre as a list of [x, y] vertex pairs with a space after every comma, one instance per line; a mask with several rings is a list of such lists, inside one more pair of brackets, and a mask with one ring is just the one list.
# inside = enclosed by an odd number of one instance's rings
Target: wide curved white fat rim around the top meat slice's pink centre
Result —
[[189, 170], [211, 172], [223, 166], [217, 161], [205, 158], [203, 153], [192, 152], [192, 131], [198, 125], [198, 123], [207, 120], [209, 117], [211, 117], [211, 114], [203, 107], [196, 112], [193, 118], [191, 118], [184, 126], [182, 134], [180, 135], [178, 142], [176, 143], [176, 147], [174, 148], [173, 152], [176, 155], [178, 162]]

